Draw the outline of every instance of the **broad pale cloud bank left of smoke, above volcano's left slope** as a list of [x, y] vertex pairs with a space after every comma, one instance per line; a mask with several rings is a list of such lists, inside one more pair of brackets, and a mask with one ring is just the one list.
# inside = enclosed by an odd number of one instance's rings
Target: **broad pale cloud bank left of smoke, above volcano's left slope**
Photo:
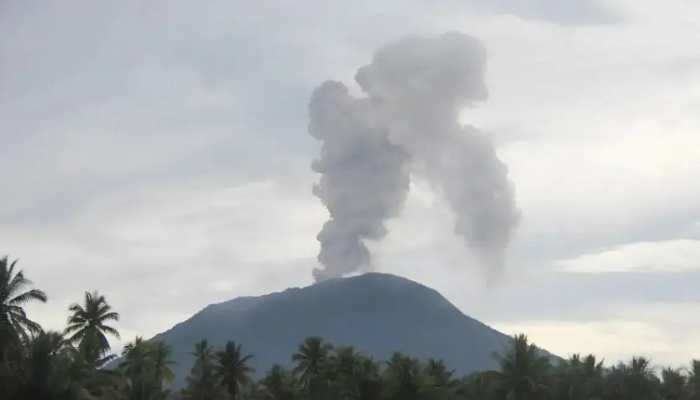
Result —
[[30, 315], [61, 329], [68, 304], [99, 290], [120, 329], [150, 336], [210, 303], [309, 284], [323, 209], [275, 182], [228, 182], [122, 194], [57, 229], [0, 229], [49, 295]]

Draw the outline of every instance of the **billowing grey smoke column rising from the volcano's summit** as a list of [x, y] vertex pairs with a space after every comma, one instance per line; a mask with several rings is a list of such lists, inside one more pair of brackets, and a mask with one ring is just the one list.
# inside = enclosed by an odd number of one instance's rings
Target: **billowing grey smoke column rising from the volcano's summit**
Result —
[[411, 37], [379, 49], [357, 72], [366, 98], [333, 81], [314, 91], [309, 132], [323, 142], [312, 164], [321, 174], [314, 194], [330, 212], [318, 235], [324, 268], [314, 271], [317, 281], [370, 265], [364, 241], [386, 235], [410, 173], [443, 194], [456, 214], [455, 233], [489, 275], [498, 274], [520, 219], [513, 186], [490, 139], [458, 121], [465, 106], [488, 97], [485, 60], [467, 35]]

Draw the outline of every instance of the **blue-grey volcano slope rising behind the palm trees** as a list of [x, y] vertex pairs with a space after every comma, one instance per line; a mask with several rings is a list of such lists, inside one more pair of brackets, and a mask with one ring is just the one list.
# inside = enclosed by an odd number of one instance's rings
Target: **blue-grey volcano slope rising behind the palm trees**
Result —
[[213, 304], [155, 339], [172, 346], [181, 387], [192, 366], [187, 353], [201, 339], [242, 343], [260, 375], [274, 363], [289, 366], [299, 343], [316, 335], [382, 360], [394, 351], [442, 358], [458, 373], [495, 367], [491, 353], [508, 341], [435, 290], [374, 273]]

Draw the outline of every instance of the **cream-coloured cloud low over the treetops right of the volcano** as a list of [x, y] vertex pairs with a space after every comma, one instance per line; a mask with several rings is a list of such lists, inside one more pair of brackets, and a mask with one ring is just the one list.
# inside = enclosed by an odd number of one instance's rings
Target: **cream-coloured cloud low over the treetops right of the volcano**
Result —
[[612, 365], [646, 356], [656, 367], [684, 367], [700, 351], [694, 339], [700, 334], [700, 323], [688, 318], [698, 311], [697, 302], [620, 302], [599, 307], [593, 320], [535, 318], [494, 321], [492, 326], [509, 334], [526, 333], [534, 343], [562, 357], [593, 353]]

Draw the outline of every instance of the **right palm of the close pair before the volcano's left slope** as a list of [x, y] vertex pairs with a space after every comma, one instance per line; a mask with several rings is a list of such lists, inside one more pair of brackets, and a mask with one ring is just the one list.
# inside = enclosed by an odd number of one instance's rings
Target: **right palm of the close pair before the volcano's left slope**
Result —
[[250, 373], [255, 370], [248, 365], [252, 355], [243, 355], [241, 345], [228, 341], [224, 349], [216, 353], [214, 371], [232, 400], [238, 400], [241, 387], [250, 382]]

